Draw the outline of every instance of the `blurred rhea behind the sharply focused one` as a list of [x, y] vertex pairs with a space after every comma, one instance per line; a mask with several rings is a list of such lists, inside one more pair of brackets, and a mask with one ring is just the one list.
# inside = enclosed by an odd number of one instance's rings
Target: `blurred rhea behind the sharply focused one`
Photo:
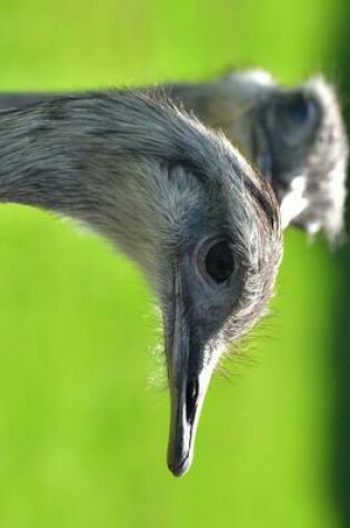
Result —
[[[166, 92], [239, 148], [272, 185], [283, 229], [311, 238], [323, 231], [332, 247], [343, 239], [349, 145], [340, 98], [323, 76], [286, 88], [270, 72], [248, 69], [147, 89]], [[0, 93], [0, 109], [49, 97]]]

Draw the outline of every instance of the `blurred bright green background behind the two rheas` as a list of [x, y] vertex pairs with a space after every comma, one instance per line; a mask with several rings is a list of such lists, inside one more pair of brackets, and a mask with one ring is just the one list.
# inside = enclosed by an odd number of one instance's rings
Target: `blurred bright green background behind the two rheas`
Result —
[[[0, 89], [326, 71], [347, 108], [346, 2], [0, 2]], [[348, 271], [347, 271], [348, 270]], [[166, 468], [168, 395], [139, 272], [70, 222], [0, 208], [0, 527], [350, 526], [350, 255], [290, 231], [273, 316], [214, 379], [193, 468]], [[244, 359], [246, 357], [246, 359]], [[154, 377], [154, 376], [153, 376]]]

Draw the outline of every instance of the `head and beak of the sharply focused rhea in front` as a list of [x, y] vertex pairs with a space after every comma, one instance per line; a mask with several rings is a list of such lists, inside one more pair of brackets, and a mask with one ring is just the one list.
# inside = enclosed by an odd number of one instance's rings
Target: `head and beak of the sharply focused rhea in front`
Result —
[[162, 311], [168, 466], [176, 476], [192, 461], [212, 372], [264, 312], [281, 259], [279, 208], [269, 183], [223, 137], [189, 123], [201, 145], [150, 167], [150, 178], [143, 170], [143, 197], [151, 192], [141, 219], [148, 249], [147, 258], [136, 257], [141, 267], [148, 263]]

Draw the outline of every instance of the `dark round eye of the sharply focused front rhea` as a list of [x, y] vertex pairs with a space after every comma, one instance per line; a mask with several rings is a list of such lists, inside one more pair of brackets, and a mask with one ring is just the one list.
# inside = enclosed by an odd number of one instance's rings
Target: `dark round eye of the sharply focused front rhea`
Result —
[[212, 245], [203, 263], [207, 273], [218, 285], [228, 280], [234, 270], [234, 258], [229, 242], [222, 240]]

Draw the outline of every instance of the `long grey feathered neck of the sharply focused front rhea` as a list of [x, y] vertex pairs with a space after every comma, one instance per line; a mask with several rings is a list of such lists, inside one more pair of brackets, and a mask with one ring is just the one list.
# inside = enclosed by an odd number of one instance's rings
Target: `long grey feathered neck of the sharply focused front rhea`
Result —
[[221, 147], [153, 97], [56, 97], [0, 112], [0, 201], [87, 222], [148, 270], [171, 221], [173, 167], [207, 170]]

